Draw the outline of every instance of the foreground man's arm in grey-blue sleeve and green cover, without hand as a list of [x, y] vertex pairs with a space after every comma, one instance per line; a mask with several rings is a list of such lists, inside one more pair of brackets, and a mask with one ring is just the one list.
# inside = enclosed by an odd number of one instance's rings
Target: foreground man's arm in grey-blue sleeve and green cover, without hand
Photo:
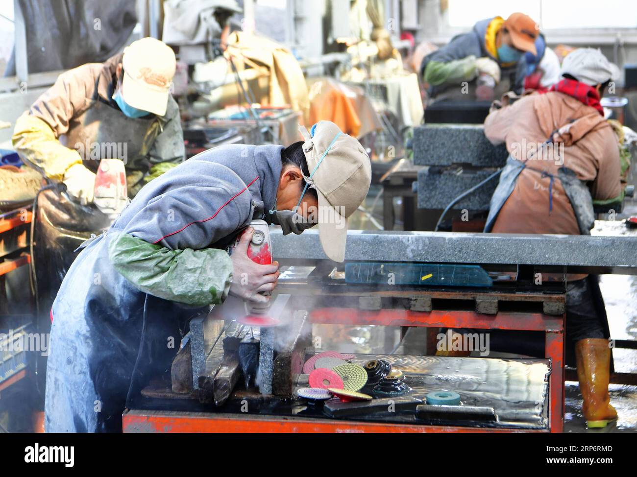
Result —
[[152, 199], [124, 231], [109, 232], [111, 263], [148, 294], [197, 306], [222, 303], [233, 262], [207, 247], [247, 221], [250, 194], [237, 192], [194, 184]]

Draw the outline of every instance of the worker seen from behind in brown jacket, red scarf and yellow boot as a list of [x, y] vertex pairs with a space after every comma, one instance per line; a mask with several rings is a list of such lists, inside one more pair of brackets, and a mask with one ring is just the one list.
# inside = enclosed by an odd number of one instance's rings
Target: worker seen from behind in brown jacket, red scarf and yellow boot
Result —
[[[612, 65], [599, 50], [580, 48], [564, 59], [561, 76], [549, 92], [524, 96], [485, 120], [487, 138], [505, 143], [510, 152], [485, 232], [590, 234], [593, 199], [621, 199], [620, 147], [599, 104], [612, 80]], [[569, 275], [566, 341], [575, 344], [589, 427], [617, 418], [608, 395], [608, 338], [597, 278]]]

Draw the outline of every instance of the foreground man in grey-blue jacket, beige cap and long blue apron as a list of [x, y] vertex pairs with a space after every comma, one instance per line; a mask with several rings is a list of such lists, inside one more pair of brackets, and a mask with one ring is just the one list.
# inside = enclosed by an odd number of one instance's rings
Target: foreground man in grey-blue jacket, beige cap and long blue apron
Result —
[[251, 220], [284, 234], [318, 222], [324, 252], [343, 261], [347, 217], [369, 190], [369, 157], [332, 122], [304, 132], [287, 148], [220, 146], [183, 162], [90, 241], [52, 308], [47, 432], [120, 431], [127, 395], [169, 371], [192, 307], [228, 294], [268, 300], [261, 293], [275, 288], [278, 264], [248, 258]]

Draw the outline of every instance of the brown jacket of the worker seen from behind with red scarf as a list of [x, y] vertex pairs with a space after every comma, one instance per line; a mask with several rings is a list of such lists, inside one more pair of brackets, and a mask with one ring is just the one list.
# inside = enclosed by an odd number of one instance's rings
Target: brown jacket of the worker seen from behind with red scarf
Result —
[[[563, 126], [568, 131], [553, 132]], [[506, 143], [520, 160], [528, 157], [515, 189], [500, 210], [494, 233], [580, 234], [575, 212], [557, 178], [563, 165], [588, 183], [593, 199], [617, 197], [621, 191], [620, 157], [612, 127], [591, 106], [560, 92], [531, 94], [489, 114], [484, 123], [487, 138]], [[553, 144], [540, 153], [534, 148], [548, 138]], [[554, 175], [553, 207], [549, 212], [550, 176]]]

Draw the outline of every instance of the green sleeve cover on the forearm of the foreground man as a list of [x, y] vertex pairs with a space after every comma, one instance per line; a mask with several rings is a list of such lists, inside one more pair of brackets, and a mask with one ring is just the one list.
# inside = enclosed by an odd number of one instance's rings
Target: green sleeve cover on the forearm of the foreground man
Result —
[[113, 267], [142, 292], [194, 306], [227, 297], [233, 262], [224, 250], [169, 250], [121, 232], [106, 239]]

